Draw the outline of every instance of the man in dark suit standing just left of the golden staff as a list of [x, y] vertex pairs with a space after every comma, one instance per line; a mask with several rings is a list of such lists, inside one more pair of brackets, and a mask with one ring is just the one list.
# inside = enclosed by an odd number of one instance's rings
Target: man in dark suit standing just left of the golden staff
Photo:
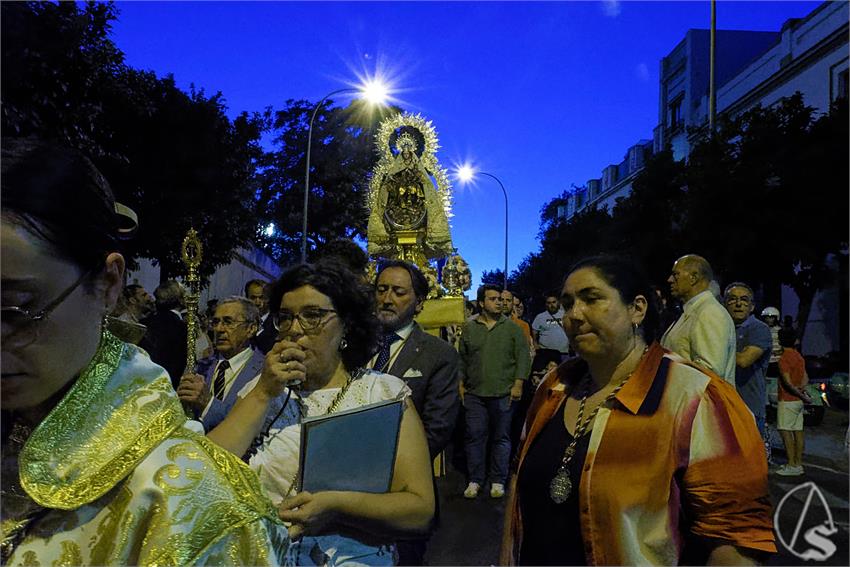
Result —
[[153, 295], [156, 312], [141, 320], [148, 330], [139, 346], [147, 351], [151, 360], [165, 368], [176, 389], [186, 368], [186, 323], [180, 316], [183, 286], [175, 280], [167, 280]]

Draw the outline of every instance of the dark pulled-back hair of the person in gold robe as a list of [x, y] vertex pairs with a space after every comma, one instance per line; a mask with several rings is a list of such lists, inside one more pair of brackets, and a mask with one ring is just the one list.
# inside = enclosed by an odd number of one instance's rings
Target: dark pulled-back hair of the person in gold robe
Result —
[[115, 197], [77, 150], [32, 138], [3, 139], [3, 216], [84, 271], [118, 250]]

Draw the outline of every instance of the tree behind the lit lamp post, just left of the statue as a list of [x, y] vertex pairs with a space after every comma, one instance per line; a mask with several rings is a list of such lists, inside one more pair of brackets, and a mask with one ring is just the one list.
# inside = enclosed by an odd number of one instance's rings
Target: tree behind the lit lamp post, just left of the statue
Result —
[[[368, 112], [360, 101], [347, 108], [332, 105], [333, 101], [326, 101], [313, 122], [310, 252], [333, 238], [366, 237], [366, 191], [378, 160], [374, 136], [381, 118], [398, 111]], [[314, 108], [306, 100], [288, 100], [283, 110], [273, 113], [271, 131], [278, 149], [261, 162], [260, 217], [277, 227], [274, 234], [263, 235], [261, 242], [273, 258], [283, 262], [294, 261], [300, 254], [307, 134]]]

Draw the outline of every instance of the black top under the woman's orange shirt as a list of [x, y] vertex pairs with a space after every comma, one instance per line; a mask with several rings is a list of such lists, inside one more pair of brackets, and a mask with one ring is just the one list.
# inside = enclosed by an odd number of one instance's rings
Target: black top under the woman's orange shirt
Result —
[[578, 507], [581, 468], [590, 442], [588, 431], [576, 445], [569, 464], [572, 490], [567, 501], [556, 504], [549, 496], [549, 484], [561, 466], [564, 450], [573, 436], [564, 426], [564, 408], [549, 420], [531, 443], [517, 478], [522, 547], [520, 565], [586, 565]]

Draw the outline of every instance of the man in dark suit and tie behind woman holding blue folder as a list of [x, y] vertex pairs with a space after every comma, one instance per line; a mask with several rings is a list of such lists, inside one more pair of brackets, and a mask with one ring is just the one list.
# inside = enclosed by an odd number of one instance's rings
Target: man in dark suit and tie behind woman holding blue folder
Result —
[[[398, 260], [385, 263], [375, 292], [384, 339], [371, 366], [410, 387], [433, 459], [446, 447], [455, 427], [460, 357], [446, 341], [425, 333], [413, 320], [428, 295], [428, 281], [416, 266]], [[421, 565], [426, 544], [427, 539], [398, 542], [399, 564]]]

